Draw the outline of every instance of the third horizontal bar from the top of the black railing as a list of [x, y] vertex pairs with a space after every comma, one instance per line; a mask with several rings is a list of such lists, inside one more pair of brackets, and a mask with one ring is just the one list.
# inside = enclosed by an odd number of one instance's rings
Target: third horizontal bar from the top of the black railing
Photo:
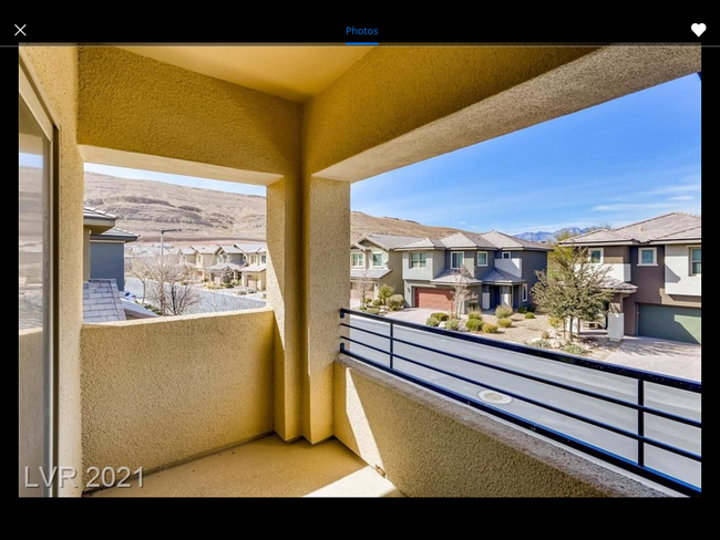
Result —
[[[371, 349], [373, 351], [378, 351], [378, 352], [381, 352], [383, 354], [389, 354], [388, 352], [382, 351], [381, 349], [378, 349], [378, 347], [372, 346], [372, 345], [366, 345], [364, 343], [362, 343], [360, 341], [357, 341], [357, 340], [353, 340], [352, 338], [344, 338], [343, 336], [343, 339], [349, 341], [350, 343], [356, 343], [357, 345], [367, 346], [368, 349]], [[608, 432], [616, 433], [616, 434], [621, 435], [624, 437], [628, 437], [628, 438], [631, 438], [634, 440], [640, 440], [640, 442], [642, 442], [645, 444], [656, 446], [656, 447], [661, 448], [661, 449], [664, 449], [666, 451], [677, 454], [677, 455], [686, 457], [688, 459], [692, 459], [695, 461], [701, 461], [702, 460], [701, 456], [698, 456], [697, 454], [693, 454], [693, 453], [688, 451], [688, 450], [683, 450], [682, 448], [676, 448], [675, 446], [670, 446], [670, 445], [668, 445], [666, 443], [661, 443], [659, 440], [655, 440], [655, 439], [651, 439], [651, 438], [648, 438], [648, 437], [644, 437], [641, 435], [637, 435], [637, 434], [635, 434], [632, 432], [628, 432], [627, 429], [623, 429], [620, 427], [611, 426], [609, 424], [605, 424], [604, 422], [596, 420], [594, 418], [588, 418], [587, 416], [583, 416], [583, 415], [579, 415], [577, 413], [572, 413], [569, 411], [564, 411], [564, 409], [558, 408], [558, 407], [556, 407], [554, 405], [549, 405], [547, 403], [543, 403], [543, 402], [538, 402], [537, 399], [533, 399], [532, 397], [526, 397], [526, 396], [523, 396], [521, 394], [516, 394], [515, 392], [510, 392], [510, 391], [501, 388], [498, 386], [494, 386], [492, 384], [482, 383], [480, 381], [475, 381], [473, 378], [469, 378], [469, 377], [465, 377], [463, 375], [459, 375], [456, 373], [449, 372], [446, 370], [442, 370], [441, 367], [436, 367], [436, 366], [433, 366], [433, 365], [424, 364], [422, 362], [418, 362], [416, 360], [409, 359], [407, 356], [403, 356], [402, 354], [398, 354], [397, 352], [393, 353], [393, 356], [395, 359], [400, 359], [400, 360], [403, 360], [405, 362], [410, 362], [411, 364], [419, 365], [419, 366], [424, 367], [426, 370], [432, 370], [432, 371], [434, 371], [436, 373], [442, 373], [443, 375], [448, 375], [448, 376], [456, 378], [459, 381], [464, 381], [465, 383], [474, 384], [475, 386], [482, 386], [484, 388], [490, 388], [490, 390], [493, 390], [495, 392], [501, 392], [502, 394], [508, 395], [511, 397], [523, 401], [525, 403], [529, 403], [531, 405], [535, 405], [537, 407], [545, 408], [545, 409], [551, 411], [553, 413], [557, 413], [557, 414], [560, 414], [563, 416], [567, 416], [569, 418], [574, 418], [574, 419], [576, 419], [578, 422], [584, 422], [586, 424], [590, 424], [590, 425], [593, 425], [595, 427], [599, 427], [601, 429], [606, 429]], [[397, 368], [393, 370], [393, 373], [397, 372], [397, 371], [398, 371]]]

